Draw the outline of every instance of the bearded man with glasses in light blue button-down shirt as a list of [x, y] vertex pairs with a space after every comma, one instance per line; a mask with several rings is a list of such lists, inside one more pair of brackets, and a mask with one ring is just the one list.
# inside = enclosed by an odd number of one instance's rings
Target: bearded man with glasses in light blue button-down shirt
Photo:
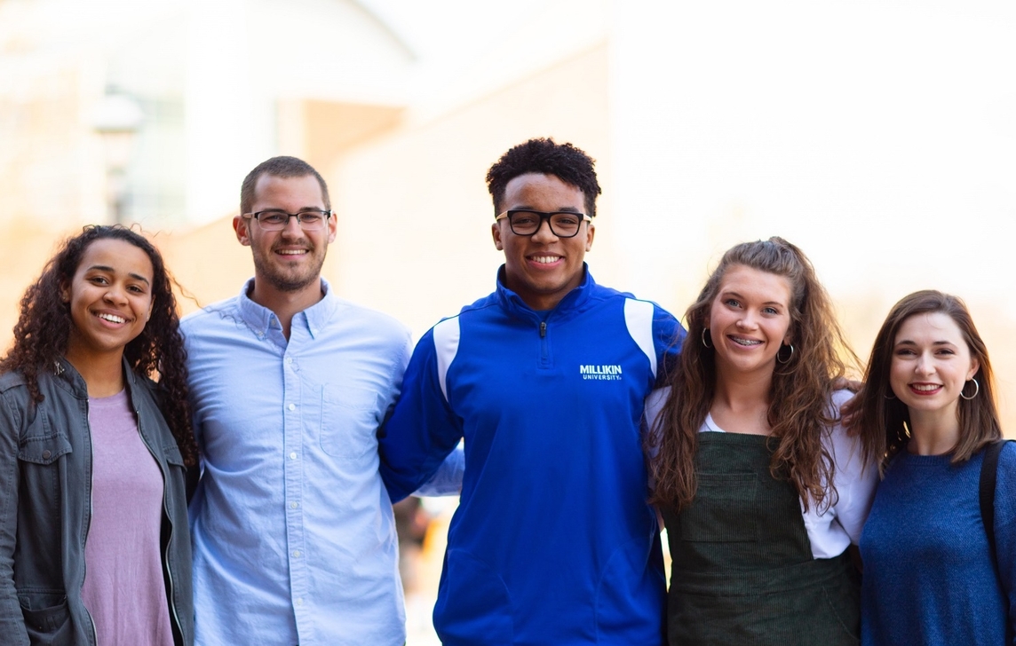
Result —
[[[377, 430], [408, 331], [321, 277], [335, 218], [321, 176], [247, 176], [254, 277], [184, 319], [202, 474], [191, 502], [197, 644], [401, 645], [405, 613]], [[422, 493], [457, 493], [455, 455]]]

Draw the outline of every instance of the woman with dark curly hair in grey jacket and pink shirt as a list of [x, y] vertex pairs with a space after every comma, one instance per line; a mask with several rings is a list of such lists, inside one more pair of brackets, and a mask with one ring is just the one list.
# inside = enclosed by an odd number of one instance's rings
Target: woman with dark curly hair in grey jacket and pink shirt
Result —
[[142, 236], [88, 227], [21, 300], [0, 361], [5, 644], [193, 642], [173, 284]]

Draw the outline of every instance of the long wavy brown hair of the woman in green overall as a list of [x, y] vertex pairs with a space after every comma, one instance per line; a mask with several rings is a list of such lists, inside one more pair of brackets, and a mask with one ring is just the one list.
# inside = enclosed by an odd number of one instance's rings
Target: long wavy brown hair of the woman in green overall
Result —
[[[770, 472], [789, 479], [805, 508], [835, 503], [833, 461], [822, 443], [837, 419], [831, 406], [833, 382], [858, 366], [836, 321], [832, 302], [804, 253], [782, 238], [743, 243], [727, 250], [685, 318], [688, 336], [677, 366], [666, 377], [670, 396], [654, 428], [646, 434], [649, 472], [655, 481], [650, 502], [682, 509], [695, 497], [695, 454], [699, 429], [716, 391], [712, 346], [701, 342], [712, 302], [733, 267], [783, 276], [790, 284], [793, 352], [773, 372], [768, 422], [774, 446]], [[782, 350], [781, 350], [782, 351]]]

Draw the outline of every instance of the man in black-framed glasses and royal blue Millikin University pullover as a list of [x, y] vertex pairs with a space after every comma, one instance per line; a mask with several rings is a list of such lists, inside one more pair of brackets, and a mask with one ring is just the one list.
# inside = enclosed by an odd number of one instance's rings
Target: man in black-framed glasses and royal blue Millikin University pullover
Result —
[[589, 275], [582, 150], [531, 139], [487, 182], [497, 289], [423, 336], [380, 440], [392, 500], [465, 441], [434, 626], [446, 646], [661, 644], [640, 419], [684, 330]]

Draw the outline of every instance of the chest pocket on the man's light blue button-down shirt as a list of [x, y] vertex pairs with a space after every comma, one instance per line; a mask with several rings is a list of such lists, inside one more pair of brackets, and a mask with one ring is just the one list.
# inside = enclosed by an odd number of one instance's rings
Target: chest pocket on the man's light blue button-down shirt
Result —
[[377, 453], [381, 423], [380, 395], [342, 384], [321, 387], [321, 450], [337, 458], [358, 459]]

